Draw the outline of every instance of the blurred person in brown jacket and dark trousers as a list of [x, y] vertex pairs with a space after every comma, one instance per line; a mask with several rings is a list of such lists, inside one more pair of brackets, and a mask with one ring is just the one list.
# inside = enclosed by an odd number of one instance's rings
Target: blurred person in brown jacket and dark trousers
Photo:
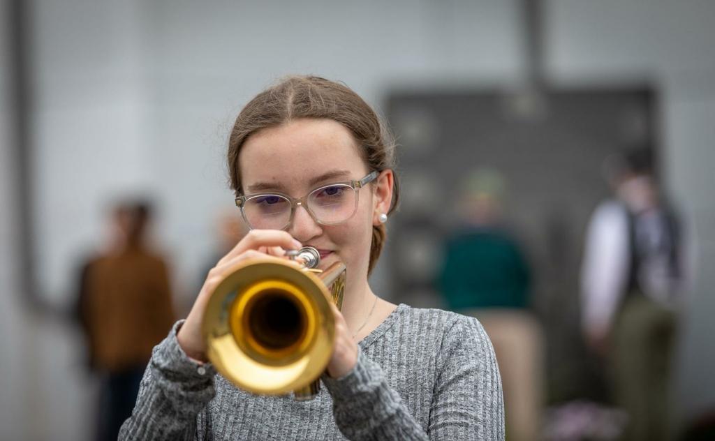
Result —
[[150, 220], [145, 202], [117, 205], [108, 246], [82, 268], [77, 313], [101, 382], [97, 440], [117, 439], [152, 348], [175, 319], [167, 264], [147, 244]]

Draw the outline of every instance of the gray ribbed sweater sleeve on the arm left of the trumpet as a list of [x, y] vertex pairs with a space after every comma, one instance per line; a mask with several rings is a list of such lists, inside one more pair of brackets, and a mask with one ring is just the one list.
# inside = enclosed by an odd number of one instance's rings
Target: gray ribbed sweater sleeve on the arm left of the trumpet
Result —
[[132, 416], [119, 440], [205, 440], [206, 407], [215, 395], [212, 365], [189, 359], [179, 347], [179, 320], [152, 351]]

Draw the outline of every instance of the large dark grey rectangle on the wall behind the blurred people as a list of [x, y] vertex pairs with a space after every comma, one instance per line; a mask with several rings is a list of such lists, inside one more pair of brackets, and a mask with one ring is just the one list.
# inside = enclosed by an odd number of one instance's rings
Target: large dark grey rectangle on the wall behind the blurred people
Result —
[[609, 195], [604, 159], [633, 144], [656, 144], [656, 104], [648, 86], [390, 94], [403, 184], [388, 240], [395, 298], [440, 306], [434, 277], [440, 246], [455, 227], [460, 182], [478, 167], [498, 170], [508, 183], [506, 221], [533, 270], [549, 401], [598, 399], [598, 372], [589, 377], [578, 332], [583, 236]]

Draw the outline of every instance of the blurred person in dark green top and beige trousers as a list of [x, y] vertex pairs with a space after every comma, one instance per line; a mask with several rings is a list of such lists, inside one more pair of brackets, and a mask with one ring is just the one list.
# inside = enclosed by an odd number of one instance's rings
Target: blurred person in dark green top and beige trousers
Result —
[[477, 317], [494, 345], [510, 440], [536, 440], [543, 407], [541, 327], [529, 312], [531, 275], [503, 221], [506, 182], [478, 169], [462, 184], [461, 227], [445, 244], [439, 284], [450, 309]]

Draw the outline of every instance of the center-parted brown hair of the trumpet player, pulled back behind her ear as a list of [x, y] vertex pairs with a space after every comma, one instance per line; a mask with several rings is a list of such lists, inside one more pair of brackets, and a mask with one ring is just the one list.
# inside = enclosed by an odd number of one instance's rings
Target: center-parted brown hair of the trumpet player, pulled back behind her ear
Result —
[[[246, 140], [261, 129], [276, 127], [292, 119], [332, 119], [350, 130], [368, 169], [395, 169], [395, 142], [372, 108], [354, 91], [317, 76], [289, 76], [262, 91], [236, 118], [228, 143], [231, 188], [241, 194], [238, 157]], [[397, 176], [389, 213], [397, 207], [400, 187]], [[368, 274], [372, 272], [385, 244], [385, 225], [373, 226]]]

